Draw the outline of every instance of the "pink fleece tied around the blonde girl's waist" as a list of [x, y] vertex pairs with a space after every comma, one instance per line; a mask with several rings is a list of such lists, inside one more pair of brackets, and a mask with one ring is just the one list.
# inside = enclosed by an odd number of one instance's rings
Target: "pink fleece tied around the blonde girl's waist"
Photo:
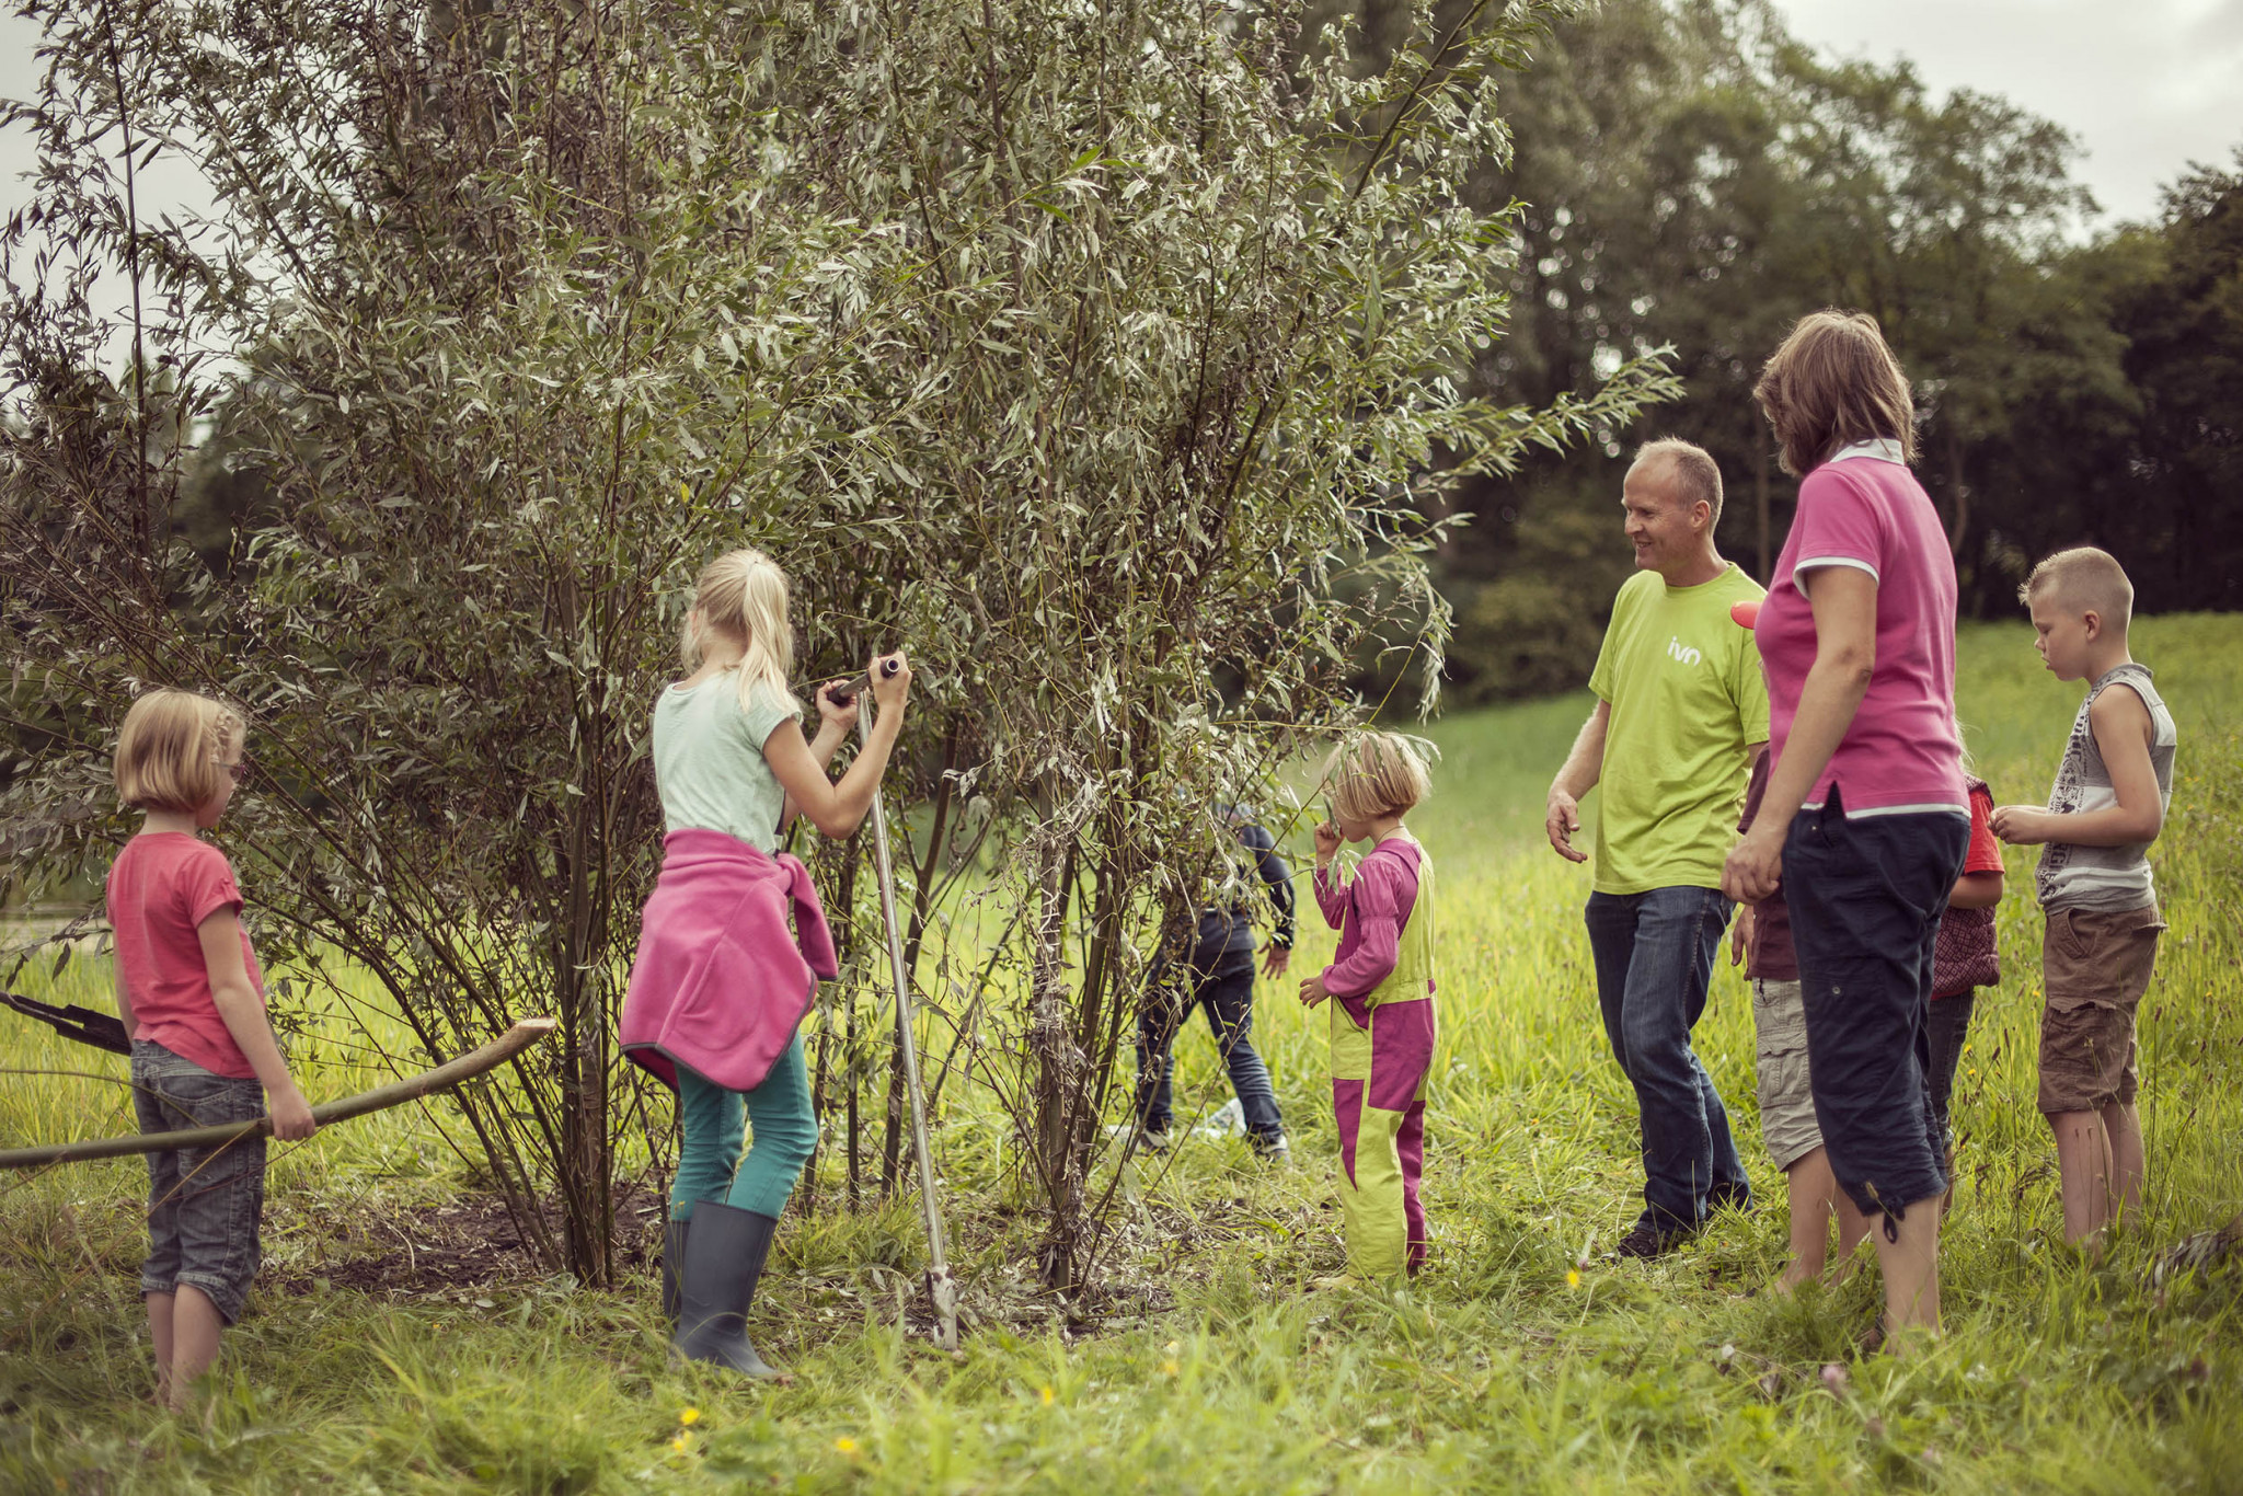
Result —
[[624, 1054], [671, 1090], [677, 1065], [756, 1090], [794, 1043], [816, 978], [839, 969], [801, 859], [724, 832], [671, 832], [624, 994]]

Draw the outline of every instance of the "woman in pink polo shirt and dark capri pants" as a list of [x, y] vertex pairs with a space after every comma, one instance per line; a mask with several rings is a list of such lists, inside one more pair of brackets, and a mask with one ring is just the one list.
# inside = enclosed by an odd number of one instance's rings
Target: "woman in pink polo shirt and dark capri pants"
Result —
[[1969, 841], [1954, 727], [1956, 570], [1909, 471], [1913, 401], [1862, 312], [1815, 312], [1754, 388], [1801, 473], [1754, 628], [1774, 769], [1723, 893], [1781, 879], [1799, 949], [1815, 1119], [1871, 1222], [1884, 1337], [1938, 1332], [1942, 1139], [1924, 1029], [1931, 955]]

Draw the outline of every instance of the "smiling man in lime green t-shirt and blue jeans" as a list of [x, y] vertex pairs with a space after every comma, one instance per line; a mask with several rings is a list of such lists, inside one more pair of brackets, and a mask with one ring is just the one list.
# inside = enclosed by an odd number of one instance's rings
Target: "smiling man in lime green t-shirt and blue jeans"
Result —
[[1689, 442], [1651, 442], [1622, 487], [1637, 572], [1619, 588], [1588, 689], [1597, 711], [1550, 785], [1545, 830], [1568, 861], [1577, 801], [1604, 785], [1588, 949], [1613, 1056], [1635, 1086], [1644, 1211], [1622, 1256], [1660, 1256], [1752, 1189], [1714, 1077], [1691, 1054], [1729, 924], [1720, 864], [1736, 841], [1767, 682], [1729, 606], [1759, 583], [1720, 558], [1720, 469]]

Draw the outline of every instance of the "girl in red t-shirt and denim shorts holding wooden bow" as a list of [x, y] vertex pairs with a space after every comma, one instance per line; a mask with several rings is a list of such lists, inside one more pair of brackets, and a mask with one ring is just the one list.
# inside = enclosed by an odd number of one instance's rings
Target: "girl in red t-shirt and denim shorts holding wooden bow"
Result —
[[[253, 1121], [267, 1097], [280, 1142], [319, 1130], [265, 1016], [233, 866], [195, 834], [218, 825], [249, 772], [244, 736], [242, 718], [204, 695], [150, 691], [117, 738], [117, 794], [144, 812], [108, 879], [141, 1133]], [[220, 1332], [242, 1317], [262, 1211], [262, 1137], [148, 1155], [141, 1296], [157, 1402], [186, 1409]]]

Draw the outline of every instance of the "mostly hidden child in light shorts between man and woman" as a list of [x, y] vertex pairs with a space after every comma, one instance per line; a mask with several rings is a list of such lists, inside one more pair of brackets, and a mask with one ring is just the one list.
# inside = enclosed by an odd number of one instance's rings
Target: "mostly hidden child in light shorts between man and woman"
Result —
[[[1767, 794], [1767, 754], [1752, 763], [1752, 785], [1745, 789], [1745, 816], [1738, 832], [1750, 832]], [[1792, 917], [1783, 906], [1783, 886], [1765, 899], [1745, 904], [1729, 933], [1729, 964], [1743, 958], [1752, 982], [1754, 1068], [1761, 1081], [1761, 1142], [1783, 1171], [1792, 1213], [1792, 1260], [1776, 1278], [1776, 1292], [1790, 1294], [1808, 1278], [1819, 1278], [1828, 1265], [1830, 1216], [1837, 1216], [1837, 1272], [1842, 1283], [1853, 1269], [1853, 1254], [1868, 1236], [1868, 1218], [1839, 1193], [1830, 1173], [1830, 1151], [1824, 1148], [1815, 1121], [1815, 1088], [1808, 1081], [1808, 1016], [1799, 989], [1799, 955], [1792, 951]]]

